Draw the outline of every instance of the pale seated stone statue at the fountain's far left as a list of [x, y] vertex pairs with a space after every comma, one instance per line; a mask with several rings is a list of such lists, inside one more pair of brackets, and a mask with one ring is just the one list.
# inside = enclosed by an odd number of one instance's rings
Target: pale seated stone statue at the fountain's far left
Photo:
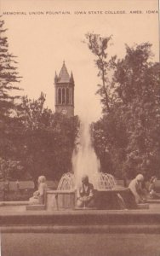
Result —
[[46, 177], [38, 177], [38, 189], [33, 193], [33, 196], [29, 199], [31, 205], [44, 204], [45, 195], [47, 191]]

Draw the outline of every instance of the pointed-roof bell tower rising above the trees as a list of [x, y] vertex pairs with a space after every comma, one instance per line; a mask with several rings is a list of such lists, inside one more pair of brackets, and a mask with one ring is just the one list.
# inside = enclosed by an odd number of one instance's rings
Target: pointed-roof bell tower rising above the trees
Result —
[[61, 67], [59, 76], [55, 72], [55, 112], [66, 114], [67, 117], [74, 116], [74, 79], [67, 72], [65, 61]]

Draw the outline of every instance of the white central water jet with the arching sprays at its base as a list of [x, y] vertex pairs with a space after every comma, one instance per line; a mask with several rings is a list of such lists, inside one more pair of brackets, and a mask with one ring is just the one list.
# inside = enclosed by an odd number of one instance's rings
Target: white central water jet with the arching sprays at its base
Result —
[[116, 181], [111, 174], [100, 172], [100, 160], [92, 145], [88, 120], [81, 121], [76, 147], [72, 154], [72, 174], [64, 174], [58, 186], [59, 190], [77, 189], [83, 175], [89, 176], [94, 189], [112, 189]]

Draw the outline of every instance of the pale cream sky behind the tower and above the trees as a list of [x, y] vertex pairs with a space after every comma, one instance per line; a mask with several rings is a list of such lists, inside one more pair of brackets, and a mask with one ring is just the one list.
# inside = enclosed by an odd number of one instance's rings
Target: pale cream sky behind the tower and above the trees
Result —
[[125, 44], [150, 42], [153, 61], [159, 60], [158, 0], [0, 0], [0, 9], [9, 52], [17, 56], [23, 77], [21, 93], [37, 99], [43, 91], [53, 111], [54, 73], [66, 61], [75, 80], [75, 114], [100, 119], [100, 79], [94, 55], [83, 44], [87, 32], [112, 35], [108, 51], [118, 58]]

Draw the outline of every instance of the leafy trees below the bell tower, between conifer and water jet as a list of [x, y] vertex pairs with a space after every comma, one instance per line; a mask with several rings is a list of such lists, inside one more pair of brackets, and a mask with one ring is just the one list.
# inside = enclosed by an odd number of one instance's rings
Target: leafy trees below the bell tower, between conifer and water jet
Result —
[[77, 136], [77, 117], [52, 113], [44, 108], [43, 93], [37, 100], [23, 97], [19, 118], [23, 124], [20, 160], [36, 181], [39, 175], [60, 179], [71, 171], [71, 154]]

